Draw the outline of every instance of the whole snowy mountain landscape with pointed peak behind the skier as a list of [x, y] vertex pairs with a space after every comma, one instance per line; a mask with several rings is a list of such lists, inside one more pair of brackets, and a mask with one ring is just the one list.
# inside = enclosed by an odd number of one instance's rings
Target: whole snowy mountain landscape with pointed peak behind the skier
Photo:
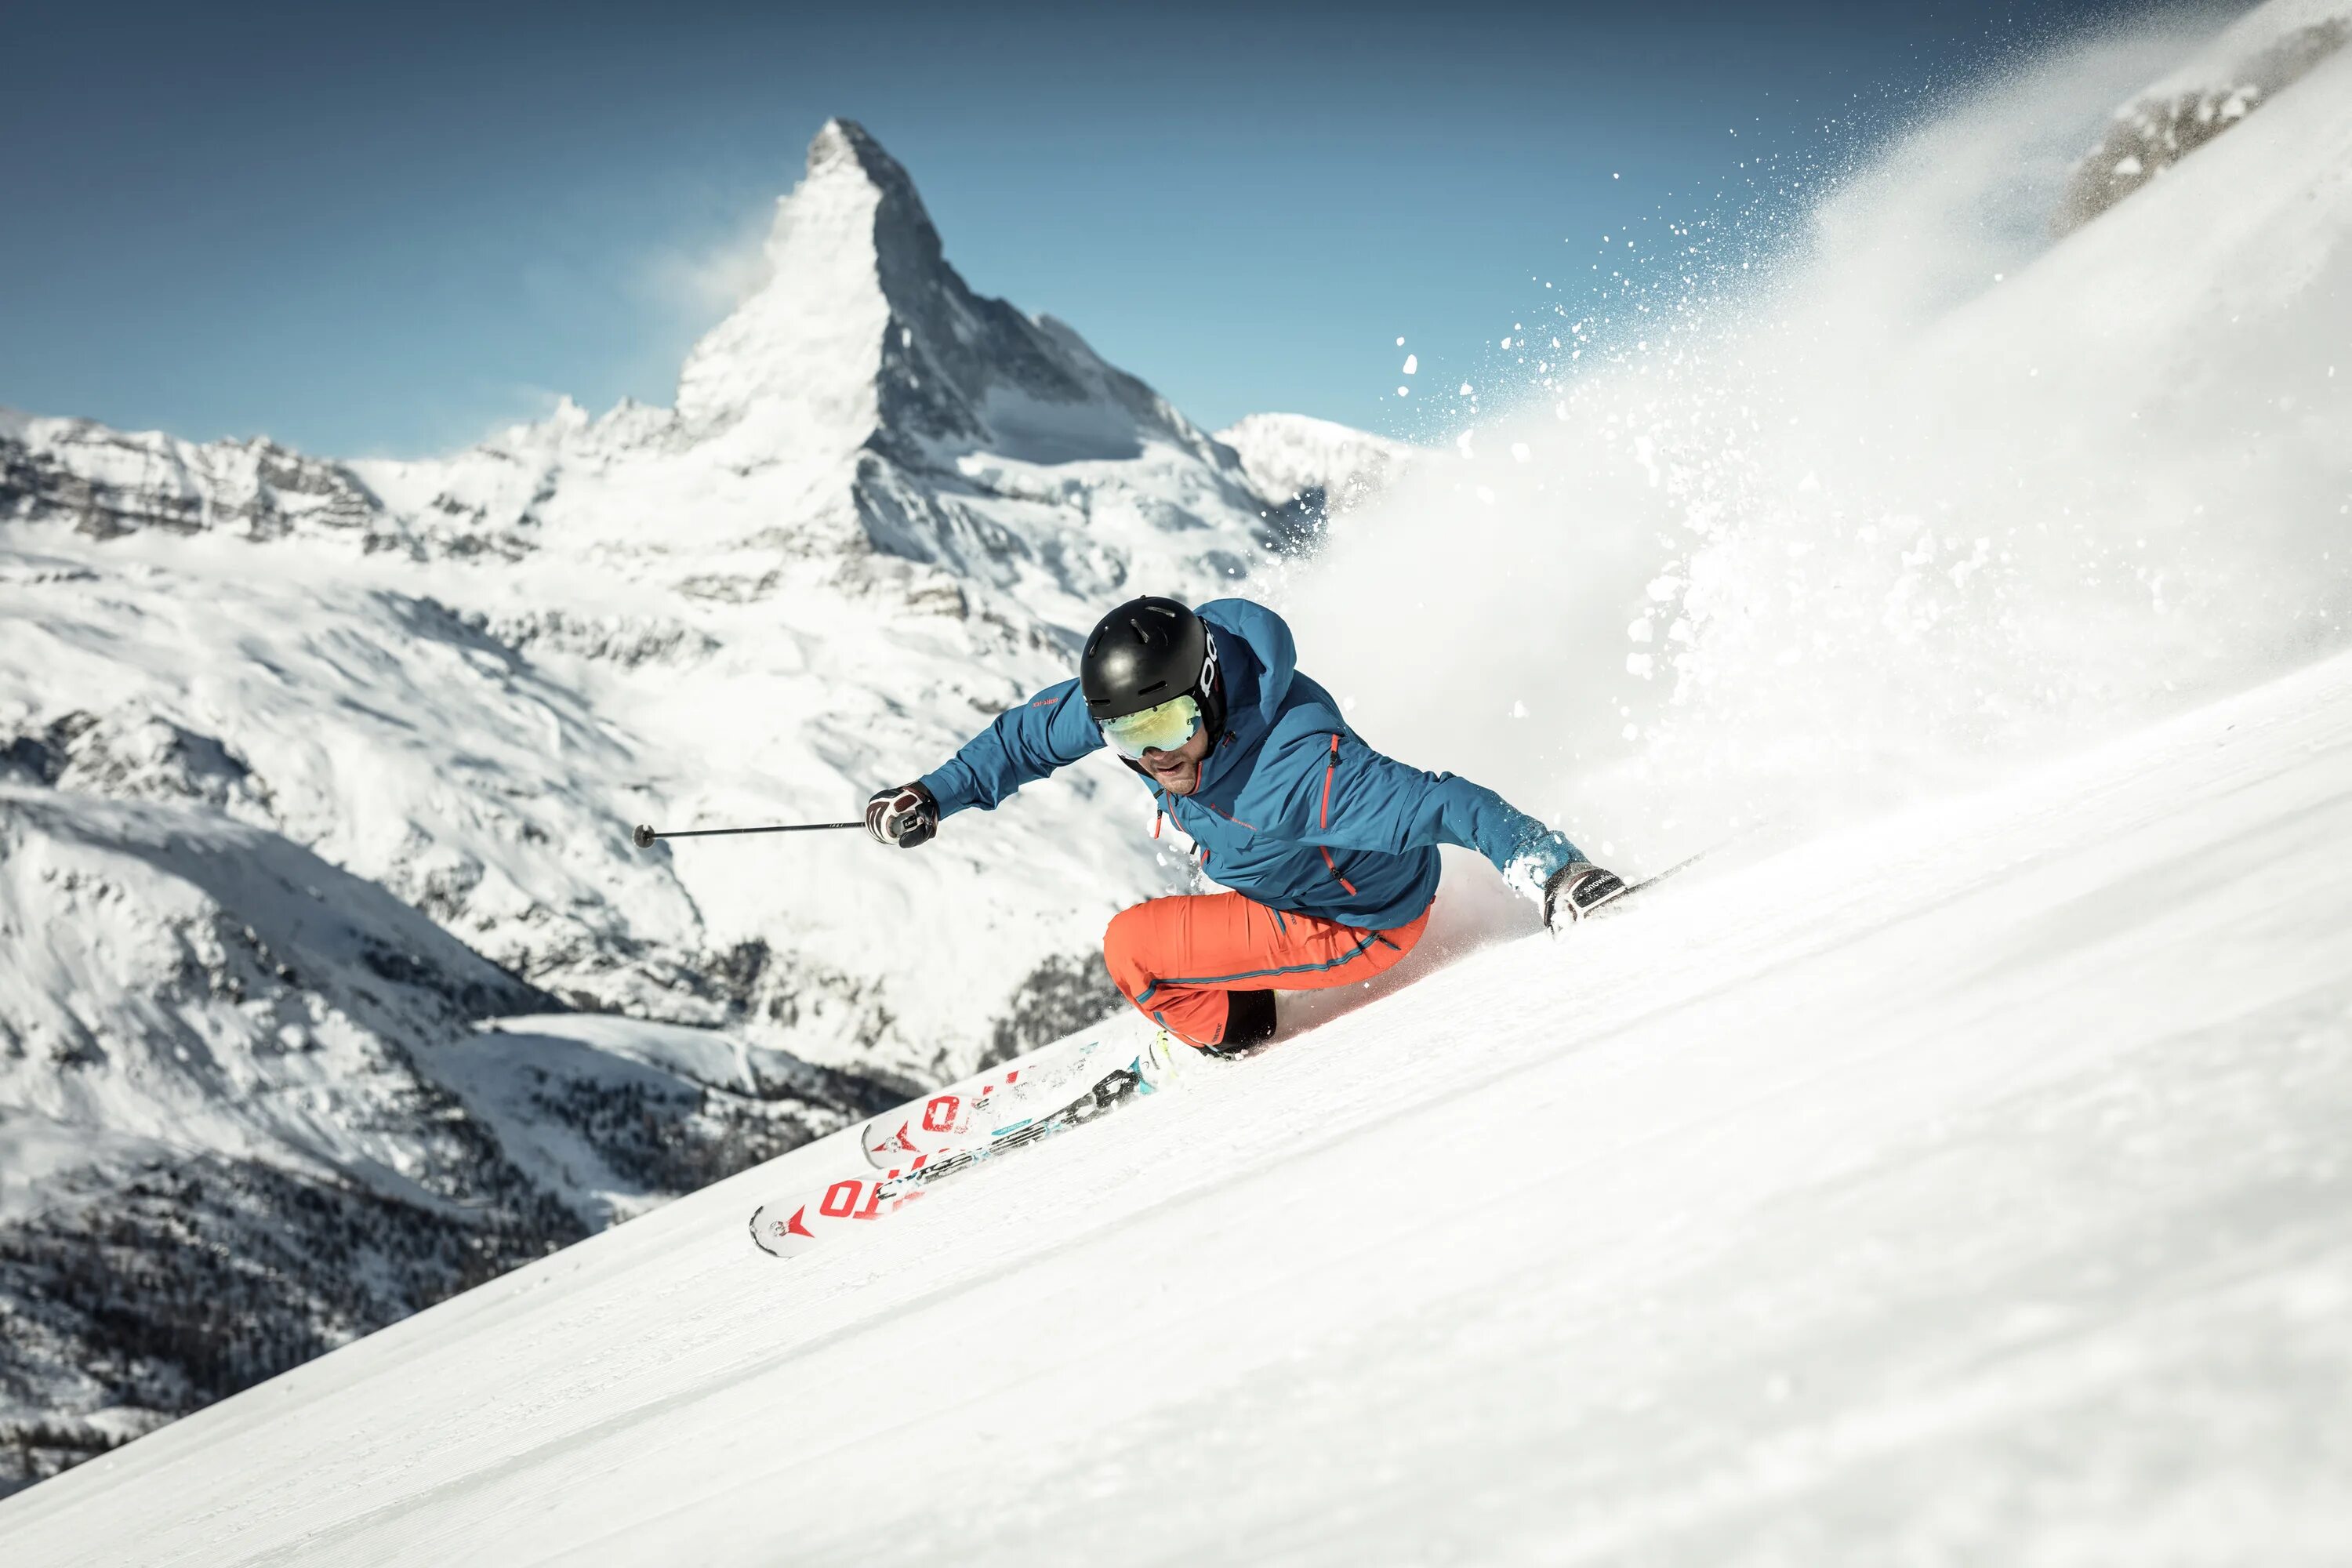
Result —
[[1108, 764], [920, 856], [628, 830], [847, 820], [1312, 520], [856, 125], [767, 259], [675, 409], [452, 458], [0, 414], [0, 1486], [1108, 1006], [1185, 877]]

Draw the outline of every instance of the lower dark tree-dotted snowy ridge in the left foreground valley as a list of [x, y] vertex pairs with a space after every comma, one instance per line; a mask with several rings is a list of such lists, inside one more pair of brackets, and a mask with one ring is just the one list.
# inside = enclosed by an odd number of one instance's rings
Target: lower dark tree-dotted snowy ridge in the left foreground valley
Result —
[[0, 785], [0, 1488], [894, 1098], [532, 1018], [560, 1004], [200, 802]]

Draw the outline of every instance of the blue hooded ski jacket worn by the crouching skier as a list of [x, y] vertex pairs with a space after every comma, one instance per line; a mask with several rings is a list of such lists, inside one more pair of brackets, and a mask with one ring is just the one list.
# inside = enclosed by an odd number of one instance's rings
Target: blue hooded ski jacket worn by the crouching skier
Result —
[[[1536, 886], [1583, 856], [1494, 790], [1423, 773], [1364, 745], [1338, 703], [1298, 672], [1291, 628], [1249, 599], [1200, 607], [1225, 682], [1225, 731], [1192, 795], [1143, 788], [1192, 835], [1204, 870], [1291, 914], [1390, 931], [1437, 896], [1437, 846], [1463, 844]], [[1103, 731], [1077, 682], [997, 715], [922, 785], [938, 813], [990, 809], [1087, 752]]]

